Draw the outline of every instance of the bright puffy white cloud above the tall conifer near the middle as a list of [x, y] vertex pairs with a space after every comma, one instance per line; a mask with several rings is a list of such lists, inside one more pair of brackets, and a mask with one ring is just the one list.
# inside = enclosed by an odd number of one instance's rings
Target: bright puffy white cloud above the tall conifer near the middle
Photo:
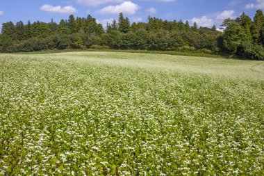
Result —
[[138, 4], [133, 3], [131, 1], [125, 1], [116, 6], [107, 6], [99, 10], [101, 14], [119, 14], [124, 13], [126, 15], [133, 15], [140, 8]]

